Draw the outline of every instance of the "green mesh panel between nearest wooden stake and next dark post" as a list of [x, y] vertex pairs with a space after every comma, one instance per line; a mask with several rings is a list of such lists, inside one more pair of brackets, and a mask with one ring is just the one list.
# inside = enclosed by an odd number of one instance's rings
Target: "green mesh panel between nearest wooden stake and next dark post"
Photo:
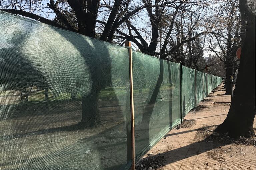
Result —
[[180, 123], [180, 64], [133, 51], [136, 159]]

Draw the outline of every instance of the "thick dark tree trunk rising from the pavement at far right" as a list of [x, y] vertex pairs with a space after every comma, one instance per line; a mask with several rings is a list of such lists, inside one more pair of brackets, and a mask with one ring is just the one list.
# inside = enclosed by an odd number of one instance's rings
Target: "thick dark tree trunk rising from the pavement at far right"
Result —
[[[240, 0], [241, 3], [246, 3]], [[244, 4], [242, 4], [244, 5]], [[241, 11], [242, 12], [242, 11]], [[234, 138], [255, 136], [253, 120], [255, 118], [255, 15], [247, 27], [234, 96], [225, 121], [215, 131], [228, 132]], [[228, 79], [229, 77], [227, 77]]]

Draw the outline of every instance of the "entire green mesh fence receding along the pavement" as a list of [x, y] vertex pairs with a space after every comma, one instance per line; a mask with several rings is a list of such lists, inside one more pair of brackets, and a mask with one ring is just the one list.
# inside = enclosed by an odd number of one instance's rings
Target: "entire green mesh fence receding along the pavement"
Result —
[[[128, 49], [1, 11], [0, 23], [1, 169], [129, 169]], [[222, 79], [132, 56], [138, 160]]]

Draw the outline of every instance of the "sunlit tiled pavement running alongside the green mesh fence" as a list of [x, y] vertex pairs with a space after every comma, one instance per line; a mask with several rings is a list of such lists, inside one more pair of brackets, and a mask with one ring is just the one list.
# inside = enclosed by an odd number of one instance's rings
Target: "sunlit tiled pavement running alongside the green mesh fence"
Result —
[[[156, 169], [255, 170], [255, 146], [232, 142], [229, 144], [216, 143], [205, 139], [204, 133], [200, 131], [202, 128], [205, 129], [204, 127], [210, 131], [214, 130], [225, 120], [231, 96], [224, 96], [224, 93], [222, 83], [210, 93], [209, 97], [205, 98], [210, 101], [199, 103], [205, 108], [200, 111], [192, 110], [186, 115], [185, 119], [195, 122], [195, 125], [188, 128], [172, 129], [141, 159], [137, 166], [143, 163], [143, 160], [150, 159], [149, 157], [156, 158], [160, 153], [164, 157], [164, 161], [161, 162], [160, 166], [162, 167]], [[205, 133], [207, 134], [207, 130]], [[143, 169], [147, 169], [147, 166], [143, 166]], [[154, 169], [154, 165], [152, 169]]]

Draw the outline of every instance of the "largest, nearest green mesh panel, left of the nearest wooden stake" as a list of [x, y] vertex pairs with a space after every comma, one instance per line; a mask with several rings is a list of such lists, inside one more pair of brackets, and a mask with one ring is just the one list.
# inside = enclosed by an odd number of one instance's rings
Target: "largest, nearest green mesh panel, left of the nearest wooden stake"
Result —
[[129, 167], [127, 48], [3, 12], [0, 23], [1, 169]]

